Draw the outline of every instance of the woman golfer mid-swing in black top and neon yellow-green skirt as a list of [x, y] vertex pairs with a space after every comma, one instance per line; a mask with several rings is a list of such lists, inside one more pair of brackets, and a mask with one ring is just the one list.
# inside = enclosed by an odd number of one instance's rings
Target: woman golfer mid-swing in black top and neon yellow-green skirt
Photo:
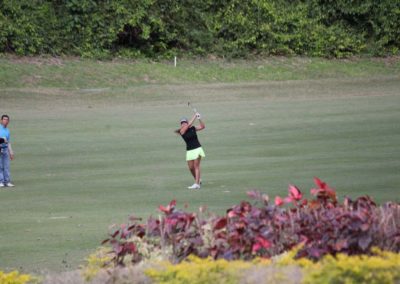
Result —
[[[195, 120], [198, 119], [199, 126], [193, 126]], [[199, 139], [197, 138], [197, 131], [203, 130], [206, 126], [201, 120], [200, 113], [196, 113], [193, 118], [188, 121], [187, 118], [181, 119], [181, 127], [175, 132], [180, 134], [183, 140], [186, 142], [186, 161], [190, 173], [193, 175], [194, 184], [189, 186], [189, 189], [200, 189], [201, 178], [200, 178], [200, 162], [201, 158], [205, 157], [203, 148], [200, 145]]]

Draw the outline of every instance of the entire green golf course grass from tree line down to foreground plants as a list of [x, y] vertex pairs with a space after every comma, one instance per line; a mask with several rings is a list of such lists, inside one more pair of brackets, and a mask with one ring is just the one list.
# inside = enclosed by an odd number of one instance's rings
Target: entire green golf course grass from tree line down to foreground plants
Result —
[[[16, 187], [0, 191], [0, 269], [75, 269], [110, 225], [156, 215], [172, 199], [224, 213], [248, 190], [272, 199], [292, 183], [308, 194], [318, 176], [340, 198], [400, 201], [398, 61], [215, 64], [199, 63], [196, 76], [188, 62], [1, 59]], [[173, 133], [189, 100], [206, 123], [199, 191], [186, 188], [185, 146]]]

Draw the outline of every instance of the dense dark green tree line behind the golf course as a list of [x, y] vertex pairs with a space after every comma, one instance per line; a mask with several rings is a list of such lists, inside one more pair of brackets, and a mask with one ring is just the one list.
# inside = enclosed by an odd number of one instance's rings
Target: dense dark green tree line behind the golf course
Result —
[[400, 0], [0, 0], [0, 53], [400, 53]]

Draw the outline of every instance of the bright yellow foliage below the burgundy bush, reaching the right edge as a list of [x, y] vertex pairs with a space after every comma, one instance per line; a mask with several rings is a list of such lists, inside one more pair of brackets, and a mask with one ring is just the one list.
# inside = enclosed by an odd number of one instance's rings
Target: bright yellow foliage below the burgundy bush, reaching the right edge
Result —
[[[273, 261], [256, 259], [226, 261], [189, 257], [173, 265], [163, 262], [145, 274], [156, 283], [397, 283], [400, 281], [400, 254], [373, 250], [373, 256], [326, 256], [318, 262], [295, 260], [298, 249]], [[294, 271], [293, 268], [299, 268]], [[264, 273], [263, 273], [264, 272]], [[250, 274], [259, 277], [250, 278]], [[296, 277], [298, 279], [293, 279]], [[250, 280], [251, 279], [251, 280]]]

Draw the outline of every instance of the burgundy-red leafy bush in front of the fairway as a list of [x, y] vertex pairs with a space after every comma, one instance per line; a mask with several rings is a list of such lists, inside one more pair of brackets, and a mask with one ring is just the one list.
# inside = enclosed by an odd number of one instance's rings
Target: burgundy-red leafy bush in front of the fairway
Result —
[[159, 209], [159, 218], [146, 224], [131, 218], [110, 234], [103, 244], [112, 247], [116, 264], [130, 255], [132, 262], [142, 260], [135, 238], [170, 248], [170, 260], [179, 262], [190, 254], [228, 260], [269, 258], [302, 245], [298, 257], [318, 260], [326, 254], [368, 254], [372, 247], [400, 251], [400, 204], [377, 206], [368, 196], [342, 203], [326, 183], [314, 178], [313, 198], [289, 185], [288, 196], [270, 202], [267, 195], [248, 192], [253, 204], [242, 201], [229, 208], [225, 216], [184, 212], [176, 201]]

